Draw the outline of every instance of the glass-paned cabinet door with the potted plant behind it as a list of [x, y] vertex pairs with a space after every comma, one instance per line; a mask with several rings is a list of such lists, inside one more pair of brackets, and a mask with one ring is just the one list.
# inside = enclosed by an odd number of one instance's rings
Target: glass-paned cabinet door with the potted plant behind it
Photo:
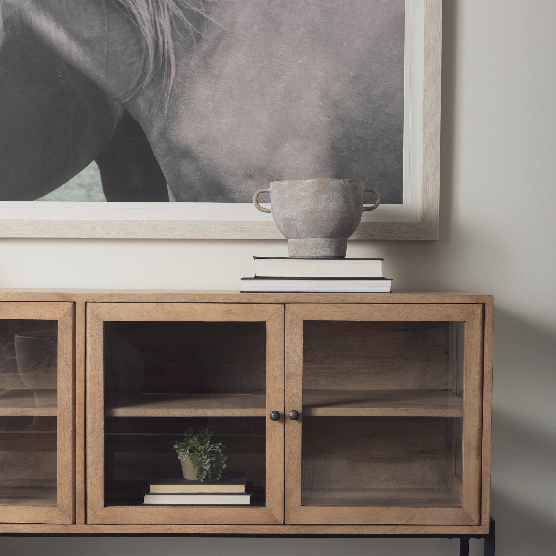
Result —
[[88, 523], [282, 523], [283, 413], [283, 305], [87, 304]]

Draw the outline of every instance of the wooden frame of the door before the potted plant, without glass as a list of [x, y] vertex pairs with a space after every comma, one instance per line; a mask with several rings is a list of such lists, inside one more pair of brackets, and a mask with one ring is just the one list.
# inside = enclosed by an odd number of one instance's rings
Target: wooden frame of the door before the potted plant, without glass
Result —
[[[266, 507], [105, 506], [105, 321], [266, 322]], [[87, 304], [87, 523], [281, 524], [284, 522], [284, 305], [88, 303]], [[272, 421], [270, 411], [280, 411]]]

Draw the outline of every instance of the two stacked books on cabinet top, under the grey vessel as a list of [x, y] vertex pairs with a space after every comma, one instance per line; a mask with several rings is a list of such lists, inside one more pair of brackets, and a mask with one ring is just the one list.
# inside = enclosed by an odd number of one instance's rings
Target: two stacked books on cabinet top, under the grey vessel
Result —
[[390, 294], [384, 259], [290, 259], [253, 257], [255, 276], [241, 279], [242, 292], [334, 292]]

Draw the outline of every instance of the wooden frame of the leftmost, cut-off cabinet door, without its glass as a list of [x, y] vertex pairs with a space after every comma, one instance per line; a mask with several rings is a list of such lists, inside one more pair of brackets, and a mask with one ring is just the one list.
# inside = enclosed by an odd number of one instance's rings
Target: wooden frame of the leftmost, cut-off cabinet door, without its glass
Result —
[[73, 523], [73, 393], [74, 335], [73, 303], [0, 302], [0, 318], [6, 320], [56, 320], [58, 336], [57, 368], [57, 505], [0, 506], [1, 523]]

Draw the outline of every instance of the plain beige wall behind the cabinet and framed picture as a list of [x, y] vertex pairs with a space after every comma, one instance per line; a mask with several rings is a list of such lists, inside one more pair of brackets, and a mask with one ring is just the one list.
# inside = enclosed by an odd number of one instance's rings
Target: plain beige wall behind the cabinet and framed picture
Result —
[[[494, 294], [499, 556], [556, 546], [556, 2], [445, 0], [438, 242], [356, 243], [396, 290]], [[238, 289], [274, 241], [0, 241], [14, 287]], [[471, 551], [479, 554], [479, 541]], [[0, 539], [2, 553], [457, 553], [454, 540]]]

